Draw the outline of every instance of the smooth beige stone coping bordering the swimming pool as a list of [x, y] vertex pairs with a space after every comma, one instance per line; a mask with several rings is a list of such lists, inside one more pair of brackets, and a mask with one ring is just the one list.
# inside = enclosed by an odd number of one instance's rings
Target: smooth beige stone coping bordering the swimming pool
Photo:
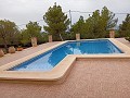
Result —
[[[100, 38], [101, 39], [101, 38]], [[130, 59], [130, 48], [114, 38], [102, 38], [110, 40], [116, 47], [118, 47], [125, 53], [114, 53], [114, 54], [68, 54], [66, 56], [54, 69], [48, 72], [25, 72], [25, 71], [6, 71], [9, 68], [13, 68], [24, 61], [27, 61], [38, 54], [47, 52], [57, 46], [66, 44], [67, 41], [75, 41], [75, 40], [66, 40], [62, 41], [55, 46], [52, 46], [48, 49], [43, 49], [36, 53], [29, 54], [25, 58], [18, 59], [11, 63], [4, 64], [0, 66], [0, 81], [12, 81], [12, 82], [42, 82], [44, 84], [58, 84], [63, 83], [67, 74], [70, 72], [73, 64], [77, 59], [100, 59], [100, 58], [107, 58], [107, 59], [115, 59], [115, 58], [127, 58]], [[82, 40], [96, 40], [96, 39], [82, 39]]]

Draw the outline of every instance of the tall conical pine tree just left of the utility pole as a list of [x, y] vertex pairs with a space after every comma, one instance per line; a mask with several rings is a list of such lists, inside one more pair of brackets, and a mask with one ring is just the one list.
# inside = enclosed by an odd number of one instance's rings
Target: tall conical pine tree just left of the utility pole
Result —
[[69, 20], [62, 12], [62, 8], [56, 3], [50, 7], [43, 20], [47, 23], [47, 26], [43, 26], [44, 30], [52, 35], [54, 40], [63, 40], [62, 34], [68, 28]]

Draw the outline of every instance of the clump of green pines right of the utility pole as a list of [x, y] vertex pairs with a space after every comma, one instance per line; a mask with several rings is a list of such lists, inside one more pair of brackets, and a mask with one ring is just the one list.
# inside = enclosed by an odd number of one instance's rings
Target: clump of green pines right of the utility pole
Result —
[[101, 12], [95, 10], [86, 21], [81, 16], [73, 25], [72, 32], [80, 33], [81, 38], [104, 38], [107, 37], [108, 29], [114, 28], [117, 22], [115, 14], [104, 7]]

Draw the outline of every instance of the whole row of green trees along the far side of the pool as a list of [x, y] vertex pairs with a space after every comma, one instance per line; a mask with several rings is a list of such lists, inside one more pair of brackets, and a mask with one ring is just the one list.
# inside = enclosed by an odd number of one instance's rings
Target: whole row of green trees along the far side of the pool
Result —
[[[80, 16], [72, 27], [70, 20], [62, 11], [61, 5], [50, 7], [43, 15], [47, 25], [42, 27], [37, 22], [29, 22], [25, 29], [18, 29], [14, 22], [0, 20], [0, 45], [8, 50], [9, 46], [30, 46], [30, 38], [37, 37], [38, 44], [48, 41], [48, 35], [53, 40], [75, 39], [76, 34], [81, 38], [105, 38], [108, 37], [108, 29], [117, 25], [118, 19], [106, 7], [102, 11], [96, 10], [88, 19]], [[116, 37], [130, 37], [130, 14], [128, 14], [116, 30]]]

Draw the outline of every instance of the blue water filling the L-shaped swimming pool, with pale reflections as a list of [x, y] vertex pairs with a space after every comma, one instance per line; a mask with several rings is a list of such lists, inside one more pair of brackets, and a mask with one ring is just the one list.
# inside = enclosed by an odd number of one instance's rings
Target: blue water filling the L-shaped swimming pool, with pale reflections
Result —
[[109, 40], [69, 41], [46, 53], [35, 57], [9, 71], [49, 71], [67, 54], [122, 53]]

